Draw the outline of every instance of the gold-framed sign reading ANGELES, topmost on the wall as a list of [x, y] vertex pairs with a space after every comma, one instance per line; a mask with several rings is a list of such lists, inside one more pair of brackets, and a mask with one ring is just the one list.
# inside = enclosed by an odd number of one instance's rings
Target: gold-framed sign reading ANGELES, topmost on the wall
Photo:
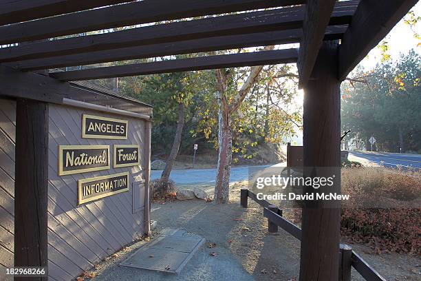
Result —
[[127, 140], [129, 121], [83, 114], [82, 138]]

